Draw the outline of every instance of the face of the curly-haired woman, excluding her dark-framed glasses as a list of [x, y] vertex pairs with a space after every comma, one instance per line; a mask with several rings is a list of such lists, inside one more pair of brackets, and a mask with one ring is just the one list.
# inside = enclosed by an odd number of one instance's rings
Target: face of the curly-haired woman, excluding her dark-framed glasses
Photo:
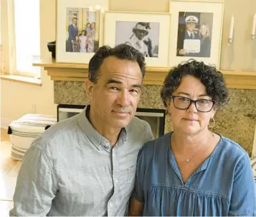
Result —
[[[205, 86], [194, 76], [184, 76], [181, 79], [179, 88], [173, 92], [173, 96], [184, 96], [192, 100], [211, 99], [211, 97], [207, 95]], [[166, 104], [174, 126], [174, 131], [187, 134], [196, 134], [206, 130], [210, 118], [213, 118], [216, 113], [214, 108], [205, 113], [197, 111], [193, 103], [189, 106], [189, 109], [176, 109], [173, 99], [168, 99]]]

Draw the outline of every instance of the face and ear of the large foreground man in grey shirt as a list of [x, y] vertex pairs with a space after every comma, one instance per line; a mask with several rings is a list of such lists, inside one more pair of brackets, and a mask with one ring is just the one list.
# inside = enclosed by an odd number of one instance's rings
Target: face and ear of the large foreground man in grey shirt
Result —
[[119, 131], [127, 126], [136, 113], [142, 80], [136, 61], [106, 58], [100, 66], [98, 82], [86, 81], [90, 117], [100, 127]]

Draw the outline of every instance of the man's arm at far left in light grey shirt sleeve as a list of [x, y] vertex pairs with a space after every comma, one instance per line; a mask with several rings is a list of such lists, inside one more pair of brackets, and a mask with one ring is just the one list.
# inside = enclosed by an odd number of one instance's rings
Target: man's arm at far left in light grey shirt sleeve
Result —
[[44, 151], [32, 146], [16, 181], [10, 216], [46, 216], [57, 193], [57, 181]]

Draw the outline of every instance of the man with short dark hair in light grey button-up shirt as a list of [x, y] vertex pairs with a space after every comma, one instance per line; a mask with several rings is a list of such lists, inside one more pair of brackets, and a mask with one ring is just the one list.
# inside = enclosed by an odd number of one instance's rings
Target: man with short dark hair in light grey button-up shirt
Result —
[[39, 136], [17, 178], [11, 216], [124, 216], [136, 160], [153, 138], [134, 117], [145, 73], [131, 46], [101, 47], [85, 81], [90, 106]]

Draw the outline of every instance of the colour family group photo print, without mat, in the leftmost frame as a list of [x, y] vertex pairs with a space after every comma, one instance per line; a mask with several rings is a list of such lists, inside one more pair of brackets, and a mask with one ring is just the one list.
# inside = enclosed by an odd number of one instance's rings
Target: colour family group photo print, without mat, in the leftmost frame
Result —
[[100, 12], [67, 8], [66, 52], [95, 53], [99, 46]]

